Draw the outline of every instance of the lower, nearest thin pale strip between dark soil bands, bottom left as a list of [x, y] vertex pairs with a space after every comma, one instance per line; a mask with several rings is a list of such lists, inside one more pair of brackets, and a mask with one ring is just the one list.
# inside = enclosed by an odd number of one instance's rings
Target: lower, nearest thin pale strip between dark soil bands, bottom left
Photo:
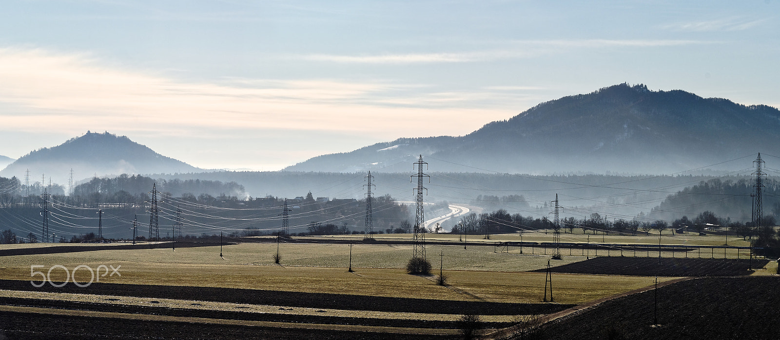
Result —
[[306, 329], [322, 329], [333, 331], [367, 331], [367, 332], [385, 332], [395, 334], [417, 334], [417, 335], [456, 335], [457, 330], [453, 329], [432, 329], [432, 328], [396, 328], [396, 327], [383, 327], [383, 326], [362, 326], [353, 324], [307, 324], [307, 323], [290, 323], [290, 322], [276, 322], [276, 321], [245, 321], [245, 320], [229, 320], [229, 319], [213, 319], [207, 317], [175, 317], [168, 315], [152, 315], [152, 314], [129, 314], [129, 313], [117, 313], [117, 312], [100, 312], [93, 310], [67, 310], [58, 308], [41, 308], [41, 307], [22, 307], [22, 306], [2, 306], [0, 310], [15, 313], [26, 314], [54, 314], [54, 315], [66, 315], [76, 317], [109, 317], [109, 318], [121, 318], [130, 320], [141, 321], [173, 321], [173, 322], [186, 322], [186, 323], [200, 323], [200, 324], [232, 324], [241, 326], [257, 326], [257, 327], [270, 327], [270, 328], [306, 328]]

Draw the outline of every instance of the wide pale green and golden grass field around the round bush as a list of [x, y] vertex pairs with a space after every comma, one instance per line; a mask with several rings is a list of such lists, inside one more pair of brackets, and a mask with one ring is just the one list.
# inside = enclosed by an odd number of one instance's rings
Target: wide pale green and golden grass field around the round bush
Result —
[[[219, 247], [7, 256], [0, 267], [0, 279], [30, 280], [30, 265], [43, 265], [44, 272], [54, 265], [69, 269], [78, 265], [92, 268], [121, 265], [121, 277], [106, 275], [100, 282], [535, 303], [541, 301], [544, 293], [544, 273], [527, 271], [544, 268], [549, 258], [494, 253], [493, 247], [464, 250], [455, 246], [429, 246], [427, 254], [436, 269], [434, 273], [438, 273], [441, 251], [445, 254], [444, 270], [449, 275], [449, 287], [442, 287], [431, 277], [408, 275], [402, 269], [410, 257], [410, 246], [355, 245], [354, 273], [346, 270], [348, 245], [281, 244], [279, 251], [281, 265], [272, 261], [276, 244], [225, 246], [223, 258], [219, 257]], [[553, 265], [583, 259], [565, 256], [553, 261]], [[80, 269], [76, 278], [87, 282], [90, 272]], [[52, 281], [64, 279], [61, 268], [51, 271]], [[642, 277], [585, 275], [555, 275], [554, 280], [559, 303], [583, 303], [647, 286], [652, 281]]]

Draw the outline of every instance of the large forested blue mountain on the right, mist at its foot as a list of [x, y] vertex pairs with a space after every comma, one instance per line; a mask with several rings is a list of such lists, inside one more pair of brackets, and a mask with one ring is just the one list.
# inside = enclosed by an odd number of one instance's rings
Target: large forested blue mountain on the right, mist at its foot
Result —
[[[669, 173], [757, 152], [780, 155], [780, 110], [620, 84], [541, 103], [461, 137], [399, 138], [317, 156], [291, 171], [412, 170]], [[738, 170], [752, 159], [714, 168]]]

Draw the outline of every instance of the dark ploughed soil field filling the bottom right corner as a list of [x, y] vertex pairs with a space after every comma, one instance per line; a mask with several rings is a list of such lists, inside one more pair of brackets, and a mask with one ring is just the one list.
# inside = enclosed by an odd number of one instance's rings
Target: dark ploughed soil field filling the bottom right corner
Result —
[[[609, 300], [546, 324], [537, 339], [778, 338], [780, 278], [702, 278]], [[654, 299], [658, 293], [658, 323]], [[519, 335], [509, 337], [519, 339]]]

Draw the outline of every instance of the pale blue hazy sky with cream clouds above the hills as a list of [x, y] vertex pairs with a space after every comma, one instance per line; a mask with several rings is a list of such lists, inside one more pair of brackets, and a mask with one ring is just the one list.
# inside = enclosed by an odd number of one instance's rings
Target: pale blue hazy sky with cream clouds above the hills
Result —
[[778, 0], [5, 0], [0, 155], [91, 130], [278, 170], [621, 82], [780, 107], [778, 16]]

